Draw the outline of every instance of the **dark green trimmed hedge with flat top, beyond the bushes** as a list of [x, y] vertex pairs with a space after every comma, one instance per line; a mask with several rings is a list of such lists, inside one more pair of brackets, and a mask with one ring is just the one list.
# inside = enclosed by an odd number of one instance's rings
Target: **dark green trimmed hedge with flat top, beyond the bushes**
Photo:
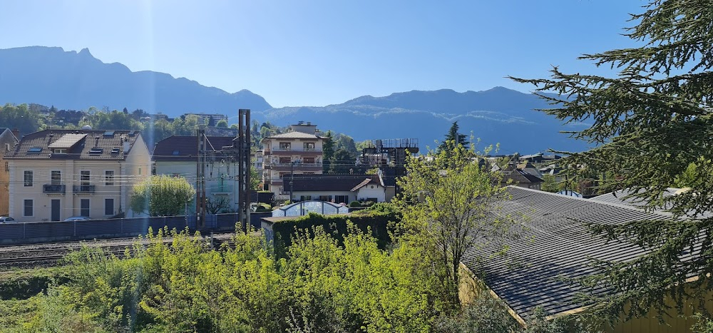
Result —
[[371, 236], [376, 238], [376, 244], [384, 249], [391, 242], [387, 230], [389, 222], [396, 222], [399, 218], [394, 212], [365, 210], [354, 215], [320, 215], [310, 212], [309, 215], [281, 220], [272, 225], [275, 255], [285, 257], [287, 248], [292, 245], [292, 235], [297, 230], [309, 230], [311, 235], [312, 227], [323, 227], [341, 243], [347, 233], [347, 221], [351, 221], [362, 232], [371, 230]]

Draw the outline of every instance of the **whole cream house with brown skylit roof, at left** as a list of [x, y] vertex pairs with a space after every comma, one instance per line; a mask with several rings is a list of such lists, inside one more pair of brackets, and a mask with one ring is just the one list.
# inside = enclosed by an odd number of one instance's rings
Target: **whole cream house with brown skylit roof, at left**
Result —
[[138, 130], [42, 130], [5, 159], [9, 213], [19, 222], [132, 217], [129, 195], [151, 165]]

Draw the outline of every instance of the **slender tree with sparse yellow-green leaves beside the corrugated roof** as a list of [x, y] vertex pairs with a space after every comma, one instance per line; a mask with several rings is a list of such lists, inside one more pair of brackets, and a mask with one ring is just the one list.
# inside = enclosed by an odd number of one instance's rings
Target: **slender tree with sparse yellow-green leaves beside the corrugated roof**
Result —
[[[403, 191], [404, 223], [426, 242], [426, 260], [446, 284], [447, 296], [459, 304], [459, 265], [466, 250], [488, 245], [501, 236], [511, 220], [500, 218], [497, 201], [508, 197], [497, 185], [497, 174], [474, 163], [476, 153], [447, 141], [432, 160], [409, 155], [406, 176], [398, 180]], [[419, 198], [421, 198], [419, 200]], [[503, 250], [493, 244], [496, 251]]]

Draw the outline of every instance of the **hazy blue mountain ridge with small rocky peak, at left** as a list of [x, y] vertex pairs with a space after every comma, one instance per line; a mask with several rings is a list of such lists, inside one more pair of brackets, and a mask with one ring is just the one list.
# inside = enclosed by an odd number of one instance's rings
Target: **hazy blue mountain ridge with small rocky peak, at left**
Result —
[[31, 46], [0, 50], [0, 103], [39, 103], [58, 108], [143, 108], [169, 116], [185, 112], [237, 113], [271, 108], [247, 90], [227, 93], [187, 78], [153, 71], [132, 72], [103, 63], [88, 49]]

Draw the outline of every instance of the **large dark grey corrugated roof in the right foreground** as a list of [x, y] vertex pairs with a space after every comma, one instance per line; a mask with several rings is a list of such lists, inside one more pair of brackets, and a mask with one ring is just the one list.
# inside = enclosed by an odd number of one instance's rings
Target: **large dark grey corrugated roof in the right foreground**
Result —
[[524, 226], [520, 237], [504, 240], [509, 246], [504, 257], [486, 259], [478, 265], [478, 258], [487, 258], [494, 250], [486, 245], [469, 249], [462, 261], [473, 272], [482, 272], [486, 285], [523, 318], [538, 306], [548, 314], [581, 307], [583, 304], [574, 304], [573, 299], [584, 290], [560, 277], [595, 274], [597, 271], [588, 265], [590, 258], [631, 260], [645, 252], [628, 243], [607, 243], [591, 235], [583, 222], [622, 224], [670, 218], [626, 205], [515, 186], [508, 186], [508, 192], [512, 200], [504, 202], [498, 214], [510, 214]]

